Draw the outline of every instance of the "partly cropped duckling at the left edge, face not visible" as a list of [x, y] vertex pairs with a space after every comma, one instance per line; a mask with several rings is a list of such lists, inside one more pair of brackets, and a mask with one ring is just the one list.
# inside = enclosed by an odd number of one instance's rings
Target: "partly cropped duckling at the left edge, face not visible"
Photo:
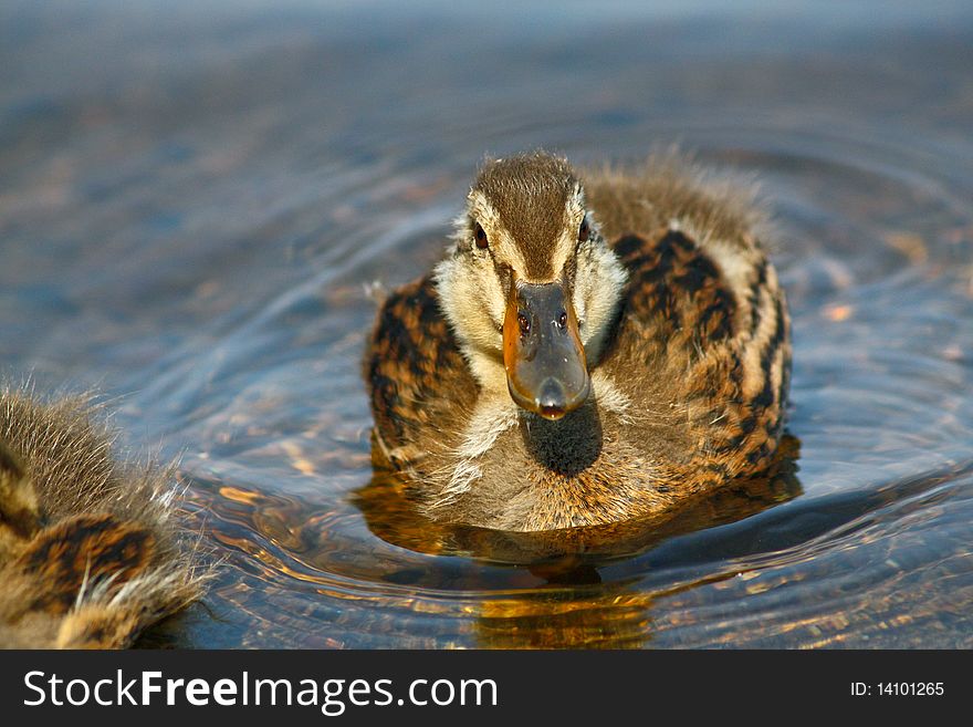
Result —
[[0, 390], [0, 647], [116, 648], [200, 595], [171, 469], [117, 461], [85, 397]]

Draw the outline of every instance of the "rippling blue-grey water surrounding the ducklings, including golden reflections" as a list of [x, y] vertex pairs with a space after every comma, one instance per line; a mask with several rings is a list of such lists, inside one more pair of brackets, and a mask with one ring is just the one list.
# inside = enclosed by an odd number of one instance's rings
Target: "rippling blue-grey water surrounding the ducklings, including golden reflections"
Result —
[[[3, 4], [0, 367], [181, 454], [224, 559], [145, 645], [973, 646], [973, 9], [634, 4]], [[576, 557], [421, 522], [373, 283], [486, 152], [671, 143], [776, 217], [791, 457]]]

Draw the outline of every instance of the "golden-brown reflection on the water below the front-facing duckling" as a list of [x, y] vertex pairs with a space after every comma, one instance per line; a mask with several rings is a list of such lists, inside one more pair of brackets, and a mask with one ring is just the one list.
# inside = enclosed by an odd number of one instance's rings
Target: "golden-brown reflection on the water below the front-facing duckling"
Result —
[[[640, 590], [637, 579], [605, 582], [599, 568], [677, 536], [741, 520], [799, 496], [798, 454], [798, 440], [786, 435], [765, 476], [732, 482], [676, 512], [610, 526], [504, 532], [436, 522], [422, 517], [409, 500], [407, 478], [380, 464], [372, 481], [355, 492], [354, 502], [369, 530], [386, 542], [421, 553], [521, 568], [535, 577], [536, 583], [524, 592], [488, 595], [475, 607], [472, 617], [478, 646], [639, 647], [651, 638], [650, 611], [657, 594]], [[395, 574], [386, 578], [406, 583], [412, 580]]]

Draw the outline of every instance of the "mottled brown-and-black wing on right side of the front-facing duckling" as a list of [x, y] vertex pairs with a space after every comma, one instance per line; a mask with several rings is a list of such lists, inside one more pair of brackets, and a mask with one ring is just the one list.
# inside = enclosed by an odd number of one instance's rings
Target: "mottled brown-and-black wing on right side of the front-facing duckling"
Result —
[[674, 229], [614, 247], [629, 283], [605, 366], [632, 386], [636, 409], [651, 412], [646, 437], [671, 440], [692, 477], [765, 469], [783, 430], [791, 343], [763, 251]]

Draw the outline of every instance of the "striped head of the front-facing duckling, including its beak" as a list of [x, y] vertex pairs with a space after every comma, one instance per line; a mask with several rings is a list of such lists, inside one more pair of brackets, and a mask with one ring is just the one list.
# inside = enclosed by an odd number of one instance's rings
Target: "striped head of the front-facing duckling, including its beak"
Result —
[[454, 242], [437, 287], [481, 386], [548, 419], [584, 404], [626, 272], [567, 162], [486, 162]]

